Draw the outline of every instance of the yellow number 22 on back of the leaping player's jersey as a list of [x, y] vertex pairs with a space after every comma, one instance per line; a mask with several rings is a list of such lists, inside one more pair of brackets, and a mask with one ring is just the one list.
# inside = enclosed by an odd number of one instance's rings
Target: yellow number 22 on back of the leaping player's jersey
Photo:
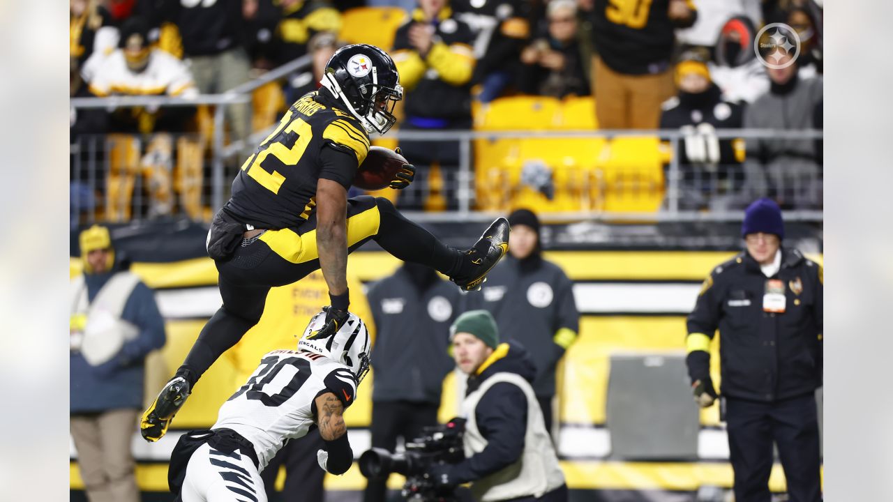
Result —
[[261, 150], [242, 164], [242, 171], [246, 171], [263, 188], [277, 195], [285, 182], [285, 176], [276, 170], [269, 172], [264, 169], [263, 161], [272, 155], [284, 165], [295, 165], [313, 138], [310, 124], [300, 117], [292, 119], [292, 114], [289, 111], [282, 117], [279, 127], [263, 140]]

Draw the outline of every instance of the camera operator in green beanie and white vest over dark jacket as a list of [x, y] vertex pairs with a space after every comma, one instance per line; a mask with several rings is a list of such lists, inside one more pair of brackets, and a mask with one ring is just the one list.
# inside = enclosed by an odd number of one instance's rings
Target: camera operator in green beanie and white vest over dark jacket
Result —
[[468, 375], [465, 458], [432, 464], [426, 476], [439, 486], [471, 481], [474, 499], [483, 502], [565, 502], [564, 475], [530, 387], [536, 368], [527, 351], [517, 342], [500, 344], [497, 323], [485, 310], [460, 315], [450, 332], [455, 364]]

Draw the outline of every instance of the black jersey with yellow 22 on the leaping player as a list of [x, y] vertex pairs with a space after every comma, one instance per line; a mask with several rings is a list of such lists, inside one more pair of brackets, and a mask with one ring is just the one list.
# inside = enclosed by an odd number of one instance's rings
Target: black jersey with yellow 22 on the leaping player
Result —
[[[323, 164], [322, 148], [340, 150], [351, 162]], [[317, 182], [350, 188], [368, 153], [369, 136], [360, 121], [326, 105], [316, 92], [306, 94], [242, 164], [224, 208], [258, 229], [294, 228], [313, 211]]]

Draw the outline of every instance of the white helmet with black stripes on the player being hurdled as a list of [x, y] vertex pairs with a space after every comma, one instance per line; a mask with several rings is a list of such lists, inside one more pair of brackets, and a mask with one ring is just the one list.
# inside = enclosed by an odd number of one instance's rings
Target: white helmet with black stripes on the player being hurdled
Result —
[[336, 363], [344, 364], [354, 373], [356, 384], [363, 381], [369, 372], [369, 354], [371, 352], [369, 330], [356, 314], [350, 314], [347, 322], [334, 335], [324, 339], [311, 339], [326, 323], [325, 311], [313, 316], [304, 335], [297, 342], [298, 350], [306, 350], [326, 356]]

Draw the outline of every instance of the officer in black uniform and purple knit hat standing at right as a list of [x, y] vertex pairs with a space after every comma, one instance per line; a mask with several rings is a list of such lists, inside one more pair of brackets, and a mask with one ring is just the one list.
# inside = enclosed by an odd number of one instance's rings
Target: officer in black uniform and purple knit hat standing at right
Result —
[[717, 397], [708, 350], [719, 328], [735, 499], [769, 502], [774, 440], [789, 500], [821, 500], [822, 266], [780, 246], [784, 223], [771, 199], [747, 207], [741, 235], [747, 251], [710, 273], [689, 315], [695, 400], [706, 407]]

